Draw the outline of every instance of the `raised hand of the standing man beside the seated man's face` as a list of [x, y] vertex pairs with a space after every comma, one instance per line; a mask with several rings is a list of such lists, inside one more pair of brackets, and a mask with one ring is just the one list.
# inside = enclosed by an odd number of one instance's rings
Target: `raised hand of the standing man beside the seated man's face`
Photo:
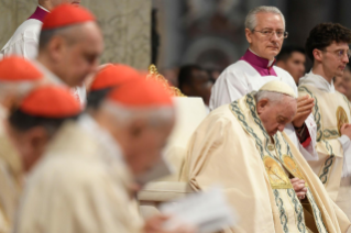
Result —
[[314, 98], [309, 98], [309, 96], [304, 96], [297, 98], [297, 111], [296, 115], [293, 120], [293, 124], [295, 127], [301, 127], [308, 118], [308, 115], [312, 112], [312, 108], [315, 106]]

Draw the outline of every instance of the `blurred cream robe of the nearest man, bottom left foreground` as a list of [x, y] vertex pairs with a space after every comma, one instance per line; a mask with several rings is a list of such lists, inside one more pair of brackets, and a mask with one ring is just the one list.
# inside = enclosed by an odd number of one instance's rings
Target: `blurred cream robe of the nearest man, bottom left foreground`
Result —
[[132, 174], [90, 116], [67, 122], [30, 173], [15, 233], [140, 233]]

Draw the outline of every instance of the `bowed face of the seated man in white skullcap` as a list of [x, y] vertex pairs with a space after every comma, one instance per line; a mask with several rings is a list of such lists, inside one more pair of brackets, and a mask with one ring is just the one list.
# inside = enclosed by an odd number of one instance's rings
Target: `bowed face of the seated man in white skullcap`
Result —
[[270, 136], [277, 131], [283, 132], [285, 125], [293, 121], [297, 110], [296, 100], [288, 96], [277, 101], [262, 99], [256, 106], [260, 119]]

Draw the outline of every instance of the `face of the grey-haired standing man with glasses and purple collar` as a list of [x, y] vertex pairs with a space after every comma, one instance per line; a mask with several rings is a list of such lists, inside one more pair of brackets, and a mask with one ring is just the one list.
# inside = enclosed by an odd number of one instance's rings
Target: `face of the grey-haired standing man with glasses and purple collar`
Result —
[[[274, 59], [281, 52], [285, 31], [281, 15], [274, 13], [257, 13], [254, 31], [245, 29], [246, 40], [250, 48], [260, 57]], [[273, 33], [275, 32], [275, 33]]]

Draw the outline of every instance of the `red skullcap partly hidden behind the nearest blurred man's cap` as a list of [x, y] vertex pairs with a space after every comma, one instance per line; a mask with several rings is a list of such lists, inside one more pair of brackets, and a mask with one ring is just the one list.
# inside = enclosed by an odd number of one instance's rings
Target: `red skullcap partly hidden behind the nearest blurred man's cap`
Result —
[[140, 73], [130, 66], [109, 64], [96, 75], [90, 86], [90, 91], [118, 87], [139, 78], [141, 78]]

